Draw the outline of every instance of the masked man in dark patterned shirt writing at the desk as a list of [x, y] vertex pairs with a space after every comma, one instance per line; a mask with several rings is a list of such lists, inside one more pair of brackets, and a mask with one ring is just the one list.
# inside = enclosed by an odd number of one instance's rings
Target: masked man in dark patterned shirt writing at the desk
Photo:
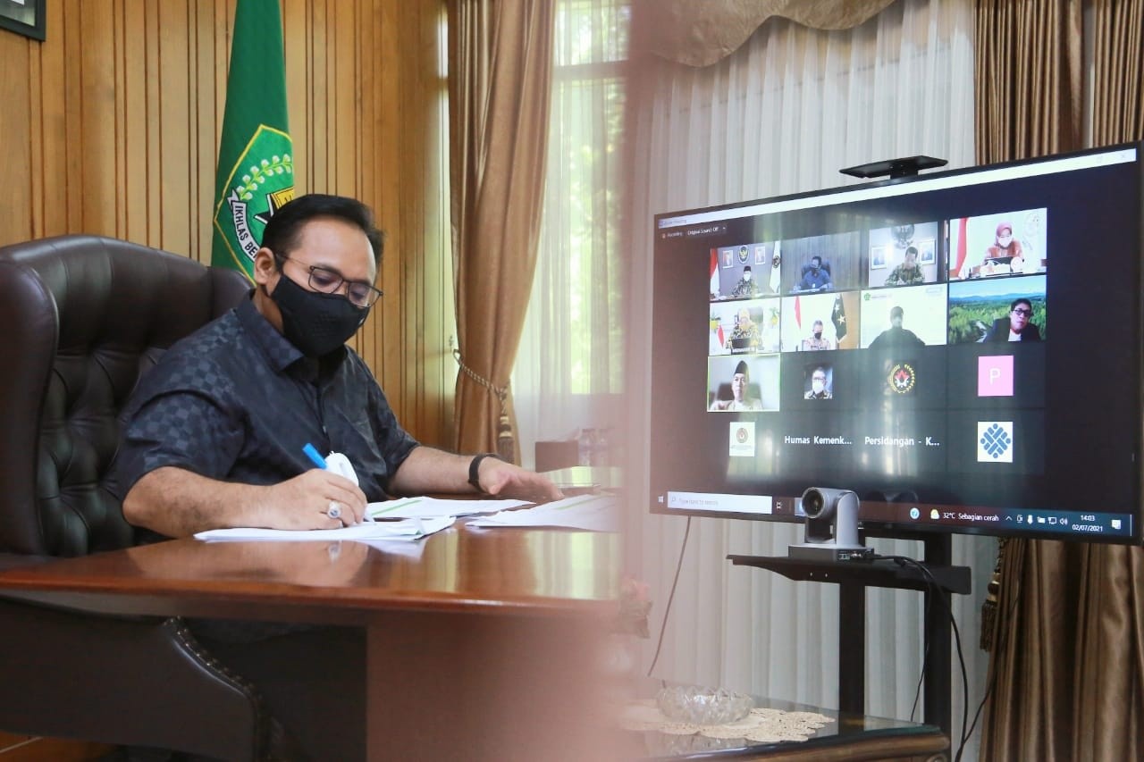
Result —
[[[388, 494], [559, 497], [538, 474], [422, 446], [397, 422], [344, 346], [381, 296], [381, 253], [373, 215], [353, 199], [302, 196], [275, 213], [251, 299], [173, 346], [124, 410], [116, 491], [128, 522], [172, 538], [231, 526], [336, 529]], [[316, 468], [307, 444], [344, 453], [359, 485]], [[359, 630], [193, 628], [260, 688], [311, 757], [362, 756]]]

